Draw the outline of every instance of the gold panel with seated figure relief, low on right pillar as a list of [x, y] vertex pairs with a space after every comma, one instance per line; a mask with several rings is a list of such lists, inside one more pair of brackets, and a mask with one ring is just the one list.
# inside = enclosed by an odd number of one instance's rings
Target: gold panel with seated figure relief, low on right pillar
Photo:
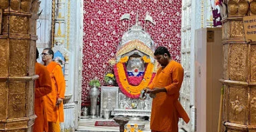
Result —
[[230, 86], [229, 122], [246, 125], [248, 120], [248, 90], [247, 87]]

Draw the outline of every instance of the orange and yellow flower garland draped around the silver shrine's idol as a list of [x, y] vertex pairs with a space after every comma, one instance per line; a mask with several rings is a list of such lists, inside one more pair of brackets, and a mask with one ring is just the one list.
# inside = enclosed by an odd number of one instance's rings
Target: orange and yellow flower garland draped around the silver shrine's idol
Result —
[[130, 98], [137, 99], [140, 96], [140, 91], [150, 84], [154, 65], [150, 62], [150, 59], [147, 59], [147, 56], [144, 56], [142, 59], [145, 63], [148, 63], [144, 73], [144, 78], [139, 85], [133, 86], [129, 84], [125, 71], [125, 62], [127, 62], [128, 59], [128, 56], [121, 58], [120, 61], [114, 66], [114, 73], [117, 84], [119, 85], [122, 93]]

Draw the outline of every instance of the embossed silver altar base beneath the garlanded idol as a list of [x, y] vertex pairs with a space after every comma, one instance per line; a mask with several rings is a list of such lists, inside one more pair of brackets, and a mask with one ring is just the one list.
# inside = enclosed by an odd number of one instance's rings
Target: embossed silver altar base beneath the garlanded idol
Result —
[[[148, 96], [145, 100], [131, 99], [119, 91], [119, 87], [100, 87], [100, 117], [104, 116], [103, 110], [107, 110], [109, 97], [111, 97], [112, 116], [130, 116], [132, 119], [150, 118], [152, 99]], [[134, 117], [134, 118], [133, 118]]]

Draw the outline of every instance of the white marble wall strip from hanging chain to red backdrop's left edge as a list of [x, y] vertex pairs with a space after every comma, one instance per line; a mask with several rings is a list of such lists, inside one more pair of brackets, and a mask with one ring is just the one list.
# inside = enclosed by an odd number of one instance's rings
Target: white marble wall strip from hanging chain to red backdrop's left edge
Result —
[[75, 131], [78, 127], [81, 105], [81, 56], [83, 45], [83, 1], [55, 0], [55, 24], [52, 40], [54, 52], [64, 56], [66, 93], [64, 99], [64, 124], [61, 131]]

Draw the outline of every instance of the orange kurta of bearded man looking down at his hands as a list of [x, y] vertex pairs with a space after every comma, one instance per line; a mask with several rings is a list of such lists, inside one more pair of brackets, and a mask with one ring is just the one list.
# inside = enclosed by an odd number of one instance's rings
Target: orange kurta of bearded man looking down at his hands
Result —
[[157, 70], [156, 76], [148, 88], [165, 88], [165, 92], [157, 93], [152, 102], [150, 128], [154, 131], [178, 132], [178, 118], [188, 123], [189, 116], [178, 101], [179, 90], [183, 81], [184, 70], [176, 61]]

